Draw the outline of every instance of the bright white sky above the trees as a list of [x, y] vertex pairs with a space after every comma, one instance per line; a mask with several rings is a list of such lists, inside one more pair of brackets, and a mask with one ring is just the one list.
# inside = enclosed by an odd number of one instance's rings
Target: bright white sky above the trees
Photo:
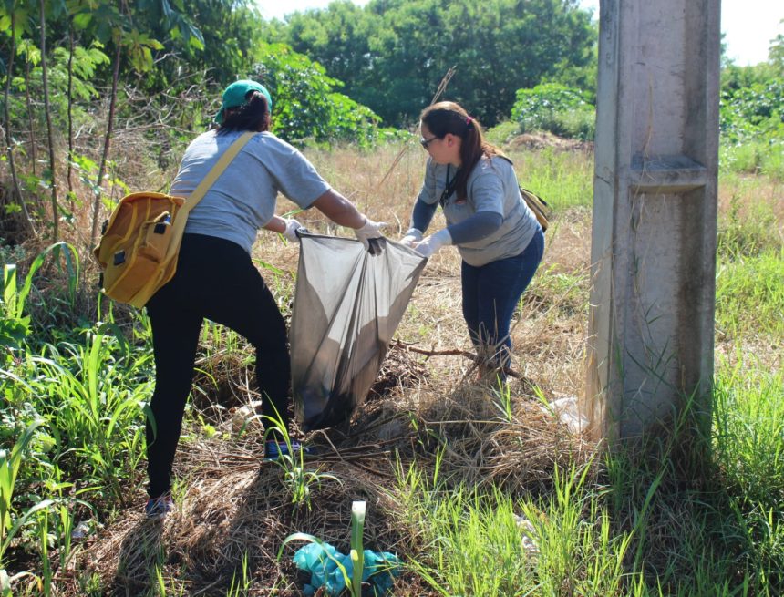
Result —
[[[353, 0], [366, 5], [367, 0]], [[295, 11], [325, 8], [331, 0], [256, 0], [266, 19], [283, 18]], [[581, 0], [584, 8], [598, 14], [599, 0]], [[724, 0], [721, 3], [721, 31], [725, 34], [727, 57], [741, 67], [768, 59], [770, 40], [784, 34], [784, 0]]]

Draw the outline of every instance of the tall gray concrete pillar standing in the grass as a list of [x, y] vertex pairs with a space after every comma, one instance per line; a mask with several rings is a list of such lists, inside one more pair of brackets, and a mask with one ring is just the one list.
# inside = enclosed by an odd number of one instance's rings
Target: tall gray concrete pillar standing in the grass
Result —
[[719, 0], [602, 0], [586, 396], [594, 437], [710, 420]]

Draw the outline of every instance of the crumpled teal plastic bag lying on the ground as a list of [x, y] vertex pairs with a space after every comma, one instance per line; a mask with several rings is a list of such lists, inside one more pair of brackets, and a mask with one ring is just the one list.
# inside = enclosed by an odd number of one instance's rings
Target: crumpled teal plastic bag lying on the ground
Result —
[[[350, 556], [335, 550], [329, 543], [308, 543], [297, 550], [294, 553], [294, 564], [310, 573], [310, 582], [303, 588], [304, 594], [314, 595], [322, 587], [330, 597], [337, 597], [345, 591], [346, 578], [338, 562], [346, 569], [348, 582], [351, 582], [354, 578], [354, 562]], [[370, 585], [369, 594], [374, 597], [391, 595], [392, 584], [399, 574], [400, 561], [394, 553], [365, 550], [362, 582]]]

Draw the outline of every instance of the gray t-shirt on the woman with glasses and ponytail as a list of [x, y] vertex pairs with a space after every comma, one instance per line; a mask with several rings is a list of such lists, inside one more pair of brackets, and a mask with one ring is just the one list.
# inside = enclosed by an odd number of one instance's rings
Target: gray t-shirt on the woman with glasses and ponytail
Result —
[[[454, 175], [455, 168], [451, 166], [449, 180]], [[418, 201], [437, 203], [447, 185], [447, 166], [428, 159]], [[539, 228], [536, 216], [520, 196], [511, 163], [499, 157], [483, 156], [469, 175], [468, 200], [458, 201], [454, 192], [443, 210], [448, 225], [464, 221], [479, 211], [500, 213], [503, 220], [497, 231], [479, 241], [458, 245], [463, 261], [476, 267], [519, 255]]]

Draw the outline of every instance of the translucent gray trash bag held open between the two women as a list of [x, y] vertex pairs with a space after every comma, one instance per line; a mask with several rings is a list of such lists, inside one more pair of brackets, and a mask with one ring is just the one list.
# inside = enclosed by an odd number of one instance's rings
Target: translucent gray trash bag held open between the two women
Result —
[[364, 401], [427, 260], [397, 242], [302, 234], [291, 342], [294, 413], [304, 431], [345, 422]]

